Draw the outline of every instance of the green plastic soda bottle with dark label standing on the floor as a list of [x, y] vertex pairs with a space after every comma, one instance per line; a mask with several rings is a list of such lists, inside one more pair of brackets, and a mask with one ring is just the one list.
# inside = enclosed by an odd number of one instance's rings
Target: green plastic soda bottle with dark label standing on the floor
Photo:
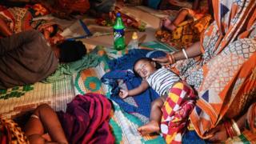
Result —
[[124, 50], [126, 48], [125, 43], [125, 25], [122, 22], [121, 14], [117, 14], [117, 18], [114, 22], [114, 49]]

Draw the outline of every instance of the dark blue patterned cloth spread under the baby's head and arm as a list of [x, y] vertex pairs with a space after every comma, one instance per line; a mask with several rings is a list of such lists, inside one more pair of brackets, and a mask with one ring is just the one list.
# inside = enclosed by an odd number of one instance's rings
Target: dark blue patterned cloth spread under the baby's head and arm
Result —
[[127, 113], [142, 114], [146, 118], [150, 118], [150, 104], [154, 99], [158, 98], [159, 95], [152, 89], [149, 88], [142, 94], [138, 94], [134, 98], [134, 102], [137, 106], [131, 103], [125, 102], [122, 98], [118, 96], [120, 90], [120, 80], [125, 83], [128, 90], [134, 89], [139, 86], [142, 82], [141, 78], [134, 75], [132, 69], [134, 62], [138, 58], [157, 58], [166, 55], [166, 53], [157, 50], [130, 50], [128, 54], [122, 56], [121, 58], [111, 60], [109, 63], [110, 72], [106, 73], [102, 77], [102, 82], [111, 86], [110, 99], [117, 102], [118, 105], [125, 110]]

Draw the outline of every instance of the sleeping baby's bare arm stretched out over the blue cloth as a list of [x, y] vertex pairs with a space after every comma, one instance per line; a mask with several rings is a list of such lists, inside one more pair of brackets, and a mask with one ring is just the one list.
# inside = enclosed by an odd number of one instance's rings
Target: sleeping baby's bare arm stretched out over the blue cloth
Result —
[[149, 84], [146, 82], [146, 80], [142, 80], [141, 85], [134, 88], [133, 90], [120, 90], [119, 96], [121, 98], [126, 98], [128, 96], [138, 95], [145, 91], [148, 87]]

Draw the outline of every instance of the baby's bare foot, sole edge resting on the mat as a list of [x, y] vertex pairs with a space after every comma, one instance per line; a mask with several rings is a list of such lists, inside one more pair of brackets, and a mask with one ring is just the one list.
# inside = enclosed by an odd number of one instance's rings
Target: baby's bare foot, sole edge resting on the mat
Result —
[[146, 125], [138, 127], [138, 132], [142, 135], [158, 133], [159, 131], [159, 124], [155, 121], [150, 121]]

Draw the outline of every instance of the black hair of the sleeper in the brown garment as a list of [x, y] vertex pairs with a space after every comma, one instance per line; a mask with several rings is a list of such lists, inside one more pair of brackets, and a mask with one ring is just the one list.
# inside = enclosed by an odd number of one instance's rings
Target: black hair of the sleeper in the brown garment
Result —
[[86, 46], [81, 41], [64, 41], [57, 47], [60, 51], [59, 62], [74, 62], [86, 54]]

